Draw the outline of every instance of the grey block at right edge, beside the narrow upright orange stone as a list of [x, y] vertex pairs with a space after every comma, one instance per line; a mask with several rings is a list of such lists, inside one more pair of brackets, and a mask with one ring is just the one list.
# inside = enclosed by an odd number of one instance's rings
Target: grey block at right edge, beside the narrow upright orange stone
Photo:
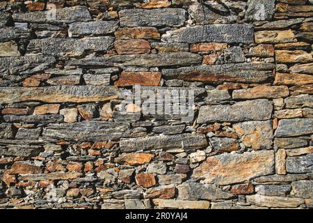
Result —
[[287, 157], [286, 169], [288, 173], [303, 174], [313, 171], [313, 153], [307, 155]]

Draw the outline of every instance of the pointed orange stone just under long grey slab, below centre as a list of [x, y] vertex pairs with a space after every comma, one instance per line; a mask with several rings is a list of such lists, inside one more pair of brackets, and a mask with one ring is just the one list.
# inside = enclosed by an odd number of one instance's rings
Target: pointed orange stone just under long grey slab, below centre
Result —
[[115, 158], [114, 162], [118, 162], [123, 165], [138, 166], [149, 163], [154, 155], [150, 153], [124, 153]]

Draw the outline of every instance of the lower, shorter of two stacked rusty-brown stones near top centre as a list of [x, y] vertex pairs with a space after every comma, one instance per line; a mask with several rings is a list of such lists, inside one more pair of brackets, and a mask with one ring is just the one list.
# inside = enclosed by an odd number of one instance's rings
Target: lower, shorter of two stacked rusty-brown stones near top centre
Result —
[[118, 54], [147, 54], [150, 43], [147, 40], [117, 40], [114, 43]]

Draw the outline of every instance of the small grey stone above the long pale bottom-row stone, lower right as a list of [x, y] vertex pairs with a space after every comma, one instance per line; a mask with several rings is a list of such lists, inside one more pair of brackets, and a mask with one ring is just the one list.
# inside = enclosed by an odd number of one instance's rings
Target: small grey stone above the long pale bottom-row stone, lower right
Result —
[[285, 197], [291, 191], [290, 185], [257, 185], [255, 192], [265, 196], [282, 196]]

